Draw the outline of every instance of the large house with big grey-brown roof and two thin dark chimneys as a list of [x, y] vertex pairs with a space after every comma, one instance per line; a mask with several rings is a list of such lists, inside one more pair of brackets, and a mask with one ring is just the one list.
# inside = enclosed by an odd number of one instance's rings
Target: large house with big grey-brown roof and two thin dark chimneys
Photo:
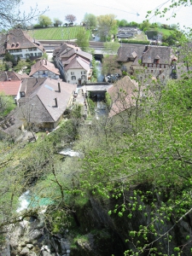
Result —
[[38, 127], [54, 129], [63, 118], [64, 111], [73, 104], [76, 84], [61, 79], [24, 79], [20, 87], [17, 118], [25, 126], [28, 122]]

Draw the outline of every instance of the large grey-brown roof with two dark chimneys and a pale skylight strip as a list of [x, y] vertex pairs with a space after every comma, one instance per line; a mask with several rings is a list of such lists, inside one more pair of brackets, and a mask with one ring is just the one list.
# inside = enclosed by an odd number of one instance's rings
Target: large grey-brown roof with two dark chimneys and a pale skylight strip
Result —
[[[73, 95], [73, 91], [76, 90], [77, 85], [67, 84], [60, 79], [44, 79], [44, 81], [40, 79], [39, 82], [38, 80], [38, 86], [36, 86], [36, 89], [31, 90], [32, 93], [27, 96], [27, 102], [23, 107], [25, 109], [30, 108], [32, 122], [55, 122], [67, 108], [69, 99]], [[61, 92], [59, 91], [58, 83], [60, 83]]]

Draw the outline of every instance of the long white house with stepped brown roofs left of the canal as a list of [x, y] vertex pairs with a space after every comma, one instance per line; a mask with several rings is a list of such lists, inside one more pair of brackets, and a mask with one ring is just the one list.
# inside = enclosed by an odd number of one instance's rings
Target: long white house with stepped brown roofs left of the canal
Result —
[[64, 81], [71, 84], [83, 84], [91, 76], [92, 55], [72, 44], [62, 44], [53, 52], [56, 66]]

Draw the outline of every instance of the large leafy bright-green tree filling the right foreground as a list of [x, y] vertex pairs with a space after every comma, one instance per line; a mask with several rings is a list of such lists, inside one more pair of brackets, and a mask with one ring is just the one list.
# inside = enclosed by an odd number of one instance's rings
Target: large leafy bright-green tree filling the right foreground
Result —
[[85, 158], [79, 187], [87, 188], [84, 195], [113, 204], [108, 211], [113, 221], [126, 222], [125, 255], [190, 252], [188, 232], [183, 240], [173, 238], [192, 211], [190, 84], [191, 79], [172, 81], [155, 94], [147, 87], [139, 93], [143, 84], [138, 84], [130, 98], [129, 90], [119, 88], [121, 104], [113, 99], [117, 108], [124, 110], [126, 103], [135, 108], [119, 119], [102, 120], [91, 136], [87, 131], [89, 143], [82, 135]]

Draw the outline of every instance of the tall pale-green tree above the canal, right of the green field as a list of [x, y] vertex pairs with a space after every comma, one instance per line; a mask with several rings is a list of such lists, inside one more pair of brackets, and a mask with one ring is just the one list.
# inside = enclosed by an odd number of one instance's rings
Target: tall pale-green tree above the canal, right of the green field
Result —
[[100, 15], [97, 17], [98, 30], [102, 40], [117, 33], [117, 20], [115, 15]]

